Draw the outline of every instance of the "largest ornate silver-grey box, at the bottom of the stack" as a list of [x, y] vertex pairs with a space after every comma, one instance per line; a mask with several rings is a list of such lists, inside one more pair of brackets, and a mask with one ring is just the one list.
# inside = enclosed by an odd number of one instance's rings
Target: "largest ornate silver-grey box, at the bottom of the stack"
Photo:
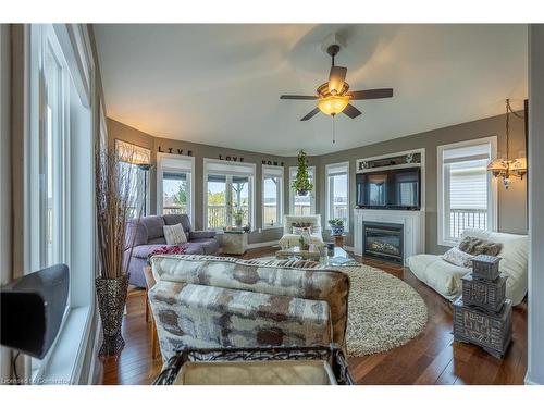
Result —
[[494, 357], [503, 358], [511, 341], [511, 300], [498, 313], [487, 314], [459, 298], [454, 302], [454, 339], [472, 343]]

